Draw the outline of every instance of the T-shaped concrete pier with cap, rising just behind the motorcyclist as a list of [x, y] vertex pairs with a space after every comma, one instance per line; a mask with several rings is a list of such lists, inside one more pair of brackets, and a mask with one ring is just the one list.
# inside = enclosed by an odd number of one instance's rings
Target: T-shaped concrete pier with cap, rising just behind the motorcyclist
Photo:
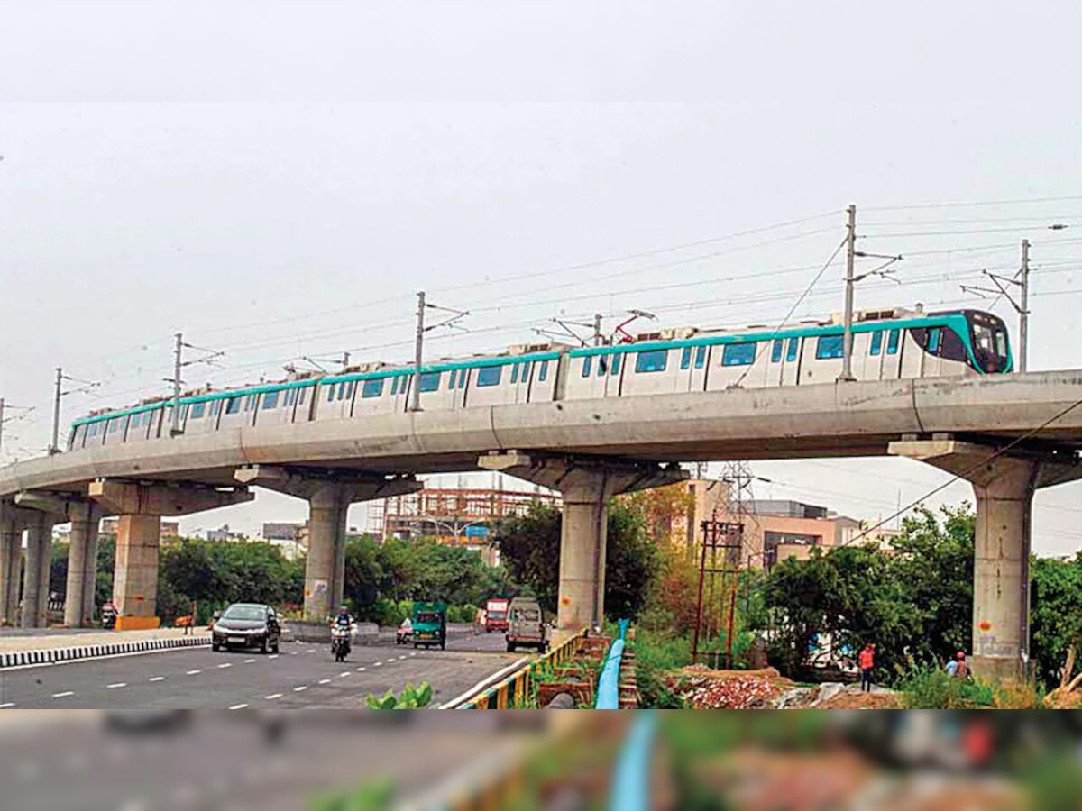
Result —
[[324, 623], [345, 594], [345, 536], [349, 505], [414, 493], [412, 476], [251, 465], [234, 478], [308, 502], [308, 554], [304, 570], [304, 619]]

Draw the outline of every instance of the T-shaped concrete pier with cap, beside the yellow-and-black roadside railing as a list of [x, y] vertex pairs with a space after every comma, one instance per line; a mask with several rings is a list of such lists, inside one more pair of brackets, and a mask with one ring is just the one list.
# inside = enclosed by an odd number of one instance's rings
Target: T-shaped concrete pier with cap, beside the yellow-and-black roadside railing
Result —
[[688, 476], [676, 466], [523, 451], [488, 453], [477, 464], [562, 494], [556, 613], [560, 634], [604, 621], [608, 500], [620, 493], [673, 484]]

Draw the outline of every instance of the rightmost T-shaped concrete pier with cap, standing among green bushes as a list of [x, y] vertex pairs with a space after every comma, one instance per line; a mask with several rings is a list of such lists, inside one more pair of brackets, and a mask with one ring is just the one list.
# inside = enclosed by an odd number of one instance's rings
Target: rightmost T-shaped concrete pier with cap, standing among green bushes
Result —
[[1016, 678], [1029, 661], [1029, 555], [1033, 494], [1082, 479], [1059, 454], [997, 451], [951, 438], [892, 442], [890, 453], [967, 480], [977, 501], [973, 570], [973, 667]]

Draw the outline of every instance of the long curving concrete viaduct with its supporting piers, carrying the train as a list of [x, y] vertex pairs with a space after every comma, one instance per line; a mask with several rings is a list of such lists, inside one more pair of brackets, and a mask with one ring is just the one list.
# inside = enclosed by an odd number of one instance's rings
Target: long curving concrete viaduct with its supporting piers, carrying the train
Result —
[[[992, 470], [969, 469], [982, 458], [973, 448], [984, 448], [991, 456], [1008, 447], [1010, 453], [991, 460]], [[150, 553], [144, 551], [148, 542], [141, 540], [148, 537], [149, 529], [135, 516], [155, 515], [154, 508], [133, 507], [130, 500], [111, 502], [104, 492], [95, 497], [92, 482], [202, 487], [227, 493], [238, 483], [253, 483], [290, 492], [309, 501], [319, 537], [305, 587], [305, 611], [316, 617], [339, 599], [339, 544], [348, 503], [393, 494], [397, 488], [407, 492], [417, 487], [410, 478], [415, 474], [501, 469], [563, 490], [568, 500], [559, 623], [570, 628], [593, 622], [603, 609], [598, 593], [605, 540], [599, 505], [617, 492], [675, 480], [677, 471], [664, 465], [894, 453], [962, 471], [977, 488], [978, 526], [984, 529], [978, 529], [974, 649], [978, 668], [1004, 672], [1016, 667], [1028, 650], [1027, 616], [1017, 595], [1027, 579], [1024, 550], [1029, 548], [1030, 497], [1038, 487], [1077, 478], [1080, 451], [1082, 370], [1071, 370], [256, 424], [106, 444], [0, 468], [0, 504], [6, 505], [2, 511], [6, 516], [17, 494], [44, 492], [89, 497], [103, 515], [127, 509], [123, 515], [132, 518], [126, 530], [124, 566], [143, 567], [149, 577]], [[1030, 483], [1024, 487], [1024, 481]], [[85, 515], [90, 521], [92, 514]], [[18, 568], [10, 541], [15, 524], [14, 519], [0, 518], [0, 593], [9, 595], [3, 602], [10, 598], [11, 571]], [[17, 526], [19, 531], [29, 527], [25, 521]], [[84, 556], [92, 534], [87, 532]], [[40, 561], [41, 551], [35, 555]], [[6, 581], [3, 572], [9, 572]], [[69, 601], [79, 598], [75, 581], [69, 581]], [[149, 615], [149, 584], [138, 576], [135, 581], [137, 587], [129, 585], [128, 575], [118, 575], [116, 585], [122, 593], [118, 596], [127, 609], [141, 595], [137, 615]], [[82, 583], [84, 600], [87, 581]], [[1008, 633], [1012, 627], [1015, 630]]]

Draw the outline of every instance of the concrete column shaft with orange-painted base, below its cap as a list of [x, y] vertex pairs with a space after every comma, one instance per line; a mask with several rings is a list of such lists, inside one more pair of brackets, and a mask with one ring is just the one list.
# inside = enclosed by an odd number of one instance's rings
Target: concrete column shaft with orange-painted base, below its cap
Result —
[[124, 515], [117, 521], [117, 566], [113, 573], [113, 603], [124, 626], [156, 627], [158, 542], [161, 517]]

